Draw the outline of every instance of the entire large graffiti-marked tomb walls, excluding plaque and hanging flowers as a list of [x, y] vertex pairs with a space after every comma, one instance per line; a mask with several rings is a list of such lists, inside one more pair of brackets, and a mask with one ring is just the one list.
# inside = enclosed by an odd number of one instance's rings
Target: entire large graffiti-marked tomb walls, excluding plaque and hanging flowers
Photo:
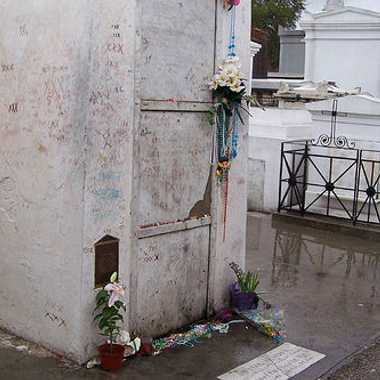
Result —
[[[248, 3], [238, 10], [247, 76]], [[245, 254], [248, 123], [223, 241], [206, 117], [227, 52], [222, 5], [0, 5], [1, 326], [77, 361], [91, 355], [94, 245], [105, 236], [119, 242], [126, 328], [161, 334], [227, 301], [227, 264]]]

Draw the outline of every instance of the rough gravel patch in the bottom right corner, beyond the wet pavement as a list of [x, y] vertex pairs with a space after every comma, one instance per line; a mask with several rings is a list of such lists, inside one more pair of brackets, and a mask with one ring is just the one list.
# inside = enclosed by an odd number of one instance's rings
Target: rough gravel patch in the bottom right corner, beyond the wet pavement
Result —
[[370, 346], [352, 360], [325, 377], [326, 380], [379, 380], [380, 379], [380, 341]]

